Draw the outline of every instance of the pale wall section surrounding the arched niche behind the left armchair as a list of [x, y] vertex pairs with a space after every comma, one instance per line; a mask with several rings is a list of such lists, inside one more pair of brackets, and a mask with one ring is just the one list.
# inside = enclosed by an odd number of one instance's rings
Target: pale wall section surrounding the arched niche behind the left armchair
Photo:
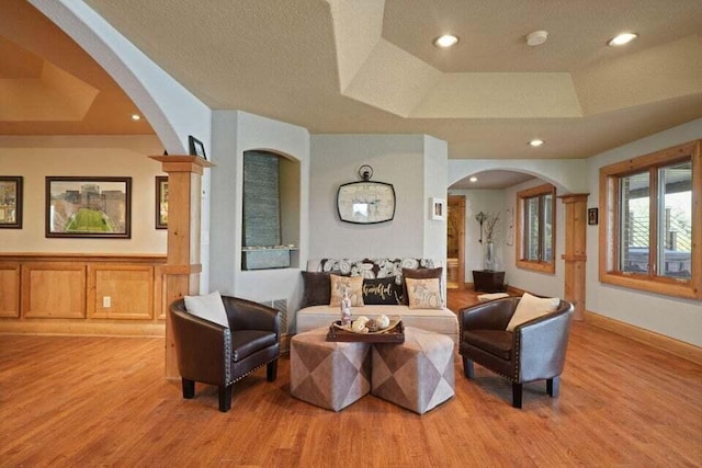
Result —
[[296, 306], [299, 267], [241, 271], [241, 216], [244, 210], [244, 152], [263, 149], [301, 164], [299, 252], [297, 265], [308, 255], [309, 134], [307, 129], [238, 111], [213, 113], [211, 201], [211, 290], [264, 301], [287, 299]]

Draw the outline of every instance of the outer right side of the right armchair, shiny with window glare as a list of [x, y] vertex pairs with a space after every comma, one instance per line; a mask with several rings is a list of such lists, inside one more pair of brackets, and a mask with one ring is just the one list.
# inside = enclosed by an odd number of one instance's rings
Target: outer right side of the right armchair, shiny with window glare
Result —
[[519, 350], [519, 380], [550, 379], [561, 375], [566, 359], [573, 305], [562, 301], [558, 310], [514, 329]]

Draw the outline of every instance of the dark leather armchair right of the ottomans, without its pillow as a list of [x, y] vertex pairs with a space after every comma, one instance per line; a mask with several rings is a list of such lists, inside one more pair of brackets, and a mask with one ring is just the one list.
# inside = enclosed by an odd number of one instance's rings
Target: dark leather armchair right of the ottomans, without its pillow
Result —
[[506, 331], [519, 300], [506, 297], [458, 312], [465, 376], [474, 377], [476, 362], [507, 377], [514, 408], [522, 407], [522, 385], [529, 381], [545, 379], [548, 396], [558, 396], [573, 318], [573, 305], [562, 300], [555, 312]]

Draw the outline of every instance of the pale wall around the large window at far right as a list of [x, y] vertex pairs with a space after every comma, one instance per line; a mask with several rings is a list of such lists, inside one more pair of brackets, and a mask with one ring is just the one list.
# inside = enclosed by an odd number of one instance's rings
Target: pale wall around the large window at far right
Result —
[[[588, 160], [588, 207], [599, 206], [599, 169], [702, 138], [702, 119], [689, 122]], [[698, 168], [697, 170], [701, 170]], [[699, 228], [699, 227], [695, 227]], [[587, 309], [633, 326], [702, 346], [702, 301], [679, 299], [599, 283], [598, 227], [587, 231]]]

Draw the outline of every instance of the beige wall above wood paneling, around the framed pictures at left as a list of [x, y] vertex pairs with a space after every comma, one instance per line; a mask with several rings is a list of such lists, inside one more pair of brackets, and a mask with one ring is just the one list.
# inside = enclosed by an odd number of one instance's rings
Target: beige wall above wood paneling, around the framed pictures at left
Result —
[[[156, 136], [0, 136], [2, 175], [24, 178], [22, 229], [0, 229], [2, 252], [166, 253], [167, 230], [155, 229], [156, 175], [148, 155], [163, 146]], [[131, 176], [131, 239], [47, 239], [47, 175]]]

